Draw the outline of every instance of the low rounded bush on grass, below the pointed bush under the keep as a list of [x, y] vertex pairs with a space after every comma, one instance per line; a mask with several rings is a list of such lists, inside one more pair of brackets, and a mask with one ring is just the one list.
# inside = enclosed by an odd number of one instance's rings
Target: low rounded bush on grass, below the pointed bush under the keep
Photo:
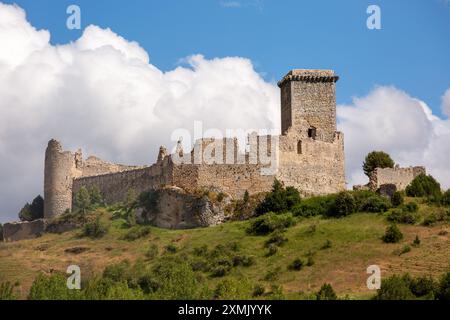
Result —
[[266, 235], [276, 230], [283, 231], [294, 225], [292, 214], [276, 215], [269, 212], [254, 219], [247, 229], [247, 233], [254, 235]]

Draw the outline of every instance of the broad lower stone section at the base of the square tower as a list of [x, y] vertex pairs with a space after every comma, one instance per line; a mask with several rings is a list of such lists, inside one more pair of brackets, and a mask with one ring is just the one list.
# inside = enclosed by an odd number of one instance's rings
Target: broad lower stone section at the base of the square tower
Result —
[[304, 196], [345, 190], [344, 138], [336, 133], [333, 143], [296, 136], [280, 137], [277, 178]]

